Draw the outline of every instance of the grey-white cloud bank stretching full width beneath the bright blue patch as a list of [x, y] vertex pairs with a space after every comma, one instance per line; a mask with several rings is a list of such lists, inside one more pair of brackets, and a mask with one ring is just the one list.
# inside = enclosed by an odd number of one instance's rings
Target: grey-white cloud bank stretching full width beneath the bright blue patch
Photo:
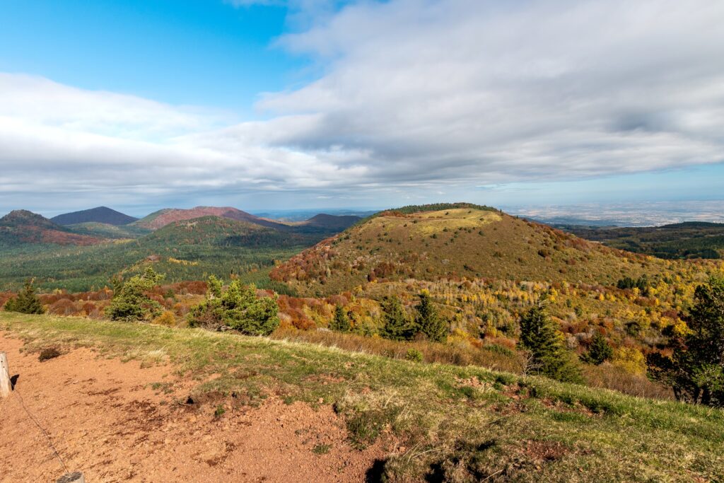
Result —
[[719, 163], [723, 22], [704, 0], [361, 1], [278, 40], [324, 73], [264, 93], [258, 122], [3, 74], [0, 204], [464, 193]]

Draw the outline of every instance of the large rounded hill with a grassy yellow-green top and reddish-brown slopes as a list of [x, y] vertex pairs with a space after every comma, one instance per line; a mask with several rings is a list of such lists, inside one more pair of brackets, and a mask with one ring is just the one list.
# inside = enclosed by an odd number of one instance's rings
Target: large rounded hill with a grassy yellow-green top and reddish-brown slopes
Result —
[[[437, 208], [437, 206], [436, 206]], [[424, 209], [424, 207], [416, 207]], [[272, 272], [300, 293], [374, 280], [497, 278], [615, 284], [666, 270], [649, 260], [484, 207], [384, 211]]]

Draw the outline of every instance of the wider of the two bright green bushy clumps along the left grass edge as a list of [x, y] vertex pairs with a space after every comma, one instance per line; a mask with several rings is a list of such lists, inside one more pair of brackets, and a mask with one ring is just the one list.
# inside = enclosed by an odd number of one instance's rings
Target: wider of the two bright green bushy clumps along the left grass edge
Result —
[[234, 280], [224, 290], [222, 282], [209, 277], [206, 300], [191, 308], [191, 327], [211, 330], [230, 328], [247, 335], [269, 335], [279, 326], [277, 299], [256, 296], [254, 285]]

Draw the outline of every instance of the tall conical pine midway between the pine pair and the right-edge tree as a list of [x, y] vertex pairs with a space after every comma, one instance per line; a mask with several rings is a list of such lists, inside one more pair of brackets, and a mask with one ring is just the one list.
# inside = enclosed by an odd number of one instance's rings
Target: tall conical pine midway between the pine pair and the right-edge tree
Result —
[[529, 350], [529, 370], [563, 382], [579, 382], [581, 374], [573, 354], [565, 348], [563, 334], [546, 313], [543, 304], [521, 318], [521, 346]]

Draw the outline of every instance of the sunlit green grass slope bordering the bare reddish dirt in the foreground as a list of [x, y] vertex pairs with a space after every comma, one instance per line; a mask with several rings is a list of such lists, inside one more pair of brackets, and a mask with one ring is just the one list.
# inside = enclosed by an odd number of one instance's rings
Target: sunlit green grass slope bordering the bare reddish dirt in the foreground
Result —
[[233, 393], [237, 403], [332, 403], [355, 445], [400, 439], [405, 449], [384, 462], [392, 480], [724, 479], [719, 409], [228, 332], [6, 312], [0, 329], [27, 350], [86, 346], [146, 364], [170, 360], [196, 379], [200, 400]]

